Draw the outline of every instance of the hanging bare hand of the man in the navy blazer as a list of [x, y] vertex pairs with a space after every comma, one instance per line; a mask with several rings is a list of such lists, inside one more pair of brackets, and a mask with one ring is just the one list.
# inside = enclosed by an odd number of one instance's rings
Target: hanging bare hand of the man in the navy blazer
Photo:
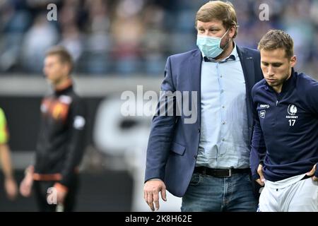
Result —
[[[145, 199], [151, 210], [159, 210], [159, 192], [161, 191], [161, 198], [167, 201], [165, 183], [160, 179], [148, 180], [143, 186], [143, 198]], [[155, 203], [155, 208], [153, 206]]]

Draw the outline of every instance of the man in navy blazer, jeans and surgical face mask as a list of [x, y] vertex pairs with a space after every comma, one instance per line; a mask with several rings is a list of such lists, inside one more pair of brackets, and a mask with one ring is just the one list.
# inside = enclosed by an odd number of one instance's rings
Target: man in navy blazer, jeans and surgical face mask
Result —
[[182, 211], [257, 209], [249, 177], [250, 92], [263, 75], [259, 52], [235, 44], [237, 27], [232, 4], [210, 1], [196, 13], [199, 49], [167, 59], [161, 90], [197, 94], [196, 120], [159, 108], [153, 117], [144, 186], [151, 210], [158, 210], [160, 192], [166, 201], [165, 189], [182, 197]]

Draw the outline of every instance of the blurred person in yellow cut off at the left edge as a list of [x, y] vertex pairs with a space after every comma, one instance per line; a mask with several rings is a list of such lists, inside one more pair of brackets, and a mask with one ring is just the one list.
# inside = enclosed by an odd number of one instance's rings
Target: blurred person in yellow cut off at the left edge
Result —
[[8, 198], [11, 200], [16, 198], [18, 187], [14, 179], [13, 169], [10, 157], [10, 148], [8, 146], [8, 127], [6, 124], [6, 116], [0, 108], [0, 160], [2, 170], [4, 172], [4, 189]]

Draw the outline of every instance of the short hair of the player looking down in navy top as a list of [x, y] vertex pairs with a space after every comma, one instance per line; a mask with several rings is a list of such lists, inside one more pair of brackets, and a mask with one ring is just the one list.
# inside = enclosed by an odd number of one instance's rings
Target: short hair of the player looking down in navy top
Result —
[[294, 42], [283, 30], [269, 30], [259, 41], [259, 51], [285, 49], [285, 57], [290, 59], [294, 55]]

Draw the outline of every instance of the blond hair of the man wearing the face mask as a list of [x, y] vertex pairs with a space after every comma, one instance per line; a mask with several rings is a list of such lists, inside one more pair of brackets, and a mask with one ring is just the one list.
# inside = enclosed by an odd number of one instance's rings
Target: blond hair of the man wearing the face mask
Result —
[[199, 11], [196, 12], [196, 24], [197, 21], [202, 22], [210, 22], [211, 20], [220, 20], [223, 23], [223, 26], [226, 30], [232, 28], [235, 29], [235, 34], [233, 36], [236, 37], [238, 25], [237, 18], [234, 6], [230, 1], [209, 1], [199, 8]]

